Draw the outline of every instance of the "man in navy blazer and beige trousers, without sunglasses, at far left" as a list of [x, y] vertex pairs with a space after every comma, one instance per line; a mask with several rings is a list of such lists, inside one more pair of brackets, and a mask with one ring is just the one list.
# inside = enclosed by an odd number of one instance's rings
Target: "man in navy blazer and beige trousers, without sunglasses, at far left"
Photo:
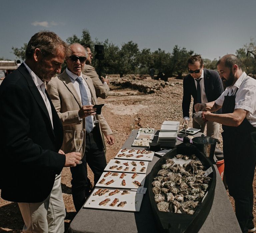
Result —
[[60, 173], [76, 166], [81, 154], [59, 151], [62, 123], [44, 81], [60, 73], [68, 52], [55, 33], [36, 33], [26, 61], [0, 86], [1, 197], [18, 202], [22, 232], [64, 232]]

